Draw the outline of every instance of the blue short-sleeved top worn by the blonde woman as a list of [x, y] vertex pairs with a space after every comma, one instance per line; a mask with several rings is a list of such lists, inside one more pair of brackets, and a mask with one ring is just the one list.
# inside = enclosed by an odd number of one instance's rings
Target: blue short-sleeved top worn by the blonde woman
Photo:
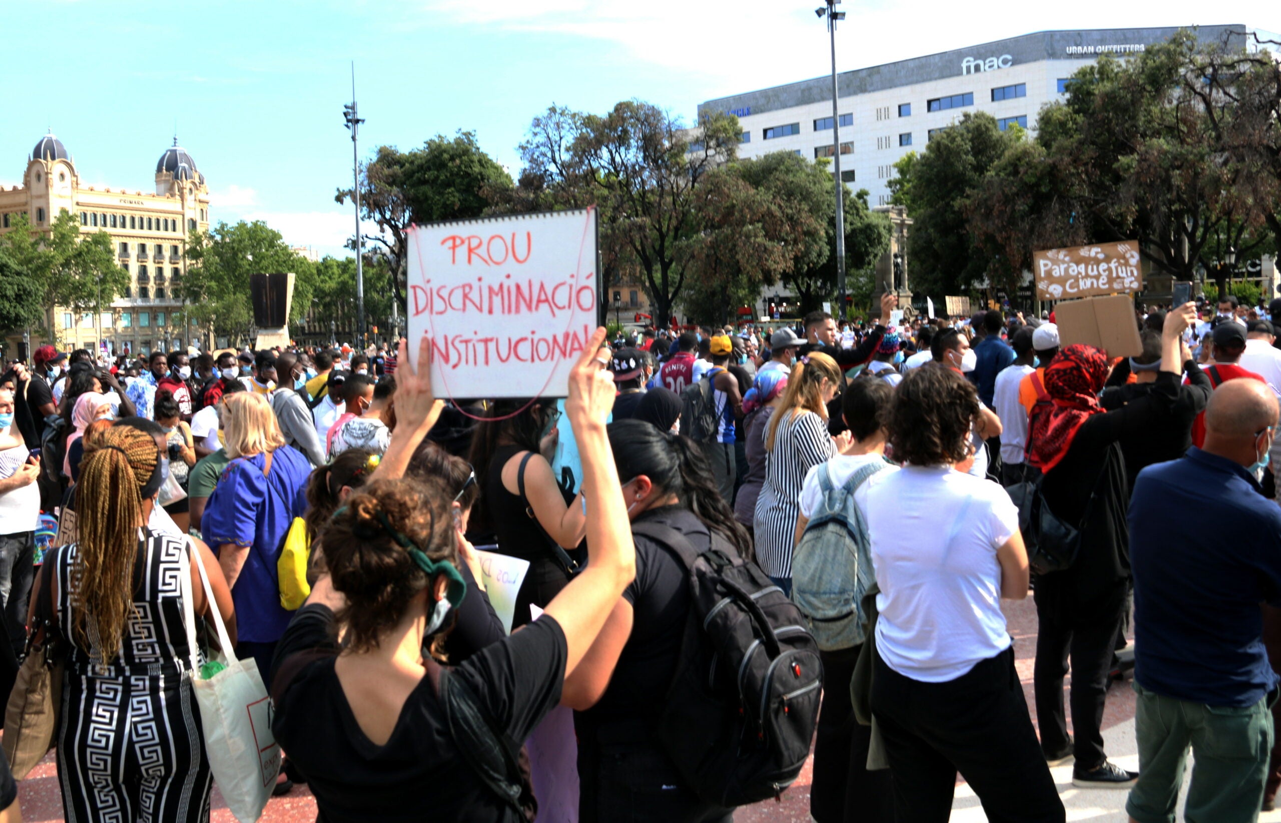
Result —
[[251, 547], [232, 600], [237, 636], [257, 644], [279, 640], [293, 615], [281, 606], [275, 563], [293, 518], [306, 511], [305, 491], [311, 474], [311, 464], [293, 446], [272, 453], [266, 476], [265, 461], [265, 455], [256, 454], [228, 463], [200, 520], [205, 542], [214, 551], [224, 544]]

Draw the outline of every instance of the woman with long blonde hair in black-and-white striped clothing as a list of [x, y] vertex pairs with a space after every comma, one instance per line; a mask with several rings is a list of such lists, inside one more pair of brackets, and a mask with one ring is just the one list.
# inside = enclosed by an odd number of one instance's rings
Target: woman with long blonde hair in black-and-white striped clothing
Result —
[[[820, 351], [797, 360], [765, 435], [765, 483], [752, 518], [756, 561], [792, 596], [792, 549], [801, 513], [797, 501], [810, 469], [848, 444], [828, 433], [828, 403], [840, 390], [840, 367]], [[839, 445], [838, 445], [839, 444]]]

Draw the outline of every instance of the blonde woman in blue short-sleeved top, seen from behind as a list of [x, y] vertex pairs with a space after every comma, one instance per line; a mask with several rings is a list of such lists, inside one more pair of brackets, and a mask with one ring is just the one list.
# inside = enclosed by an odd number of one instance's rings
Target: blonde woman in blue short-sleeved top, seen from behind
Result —
[[295, 517], [306, 510], [304, 490], [311, 464], [284, 436], [266, 397], [237, 392], [223, 397], [223, 435], [231, 463], [209, 496], [200, 527], [218, 551], [240, 615], [237, 654], [254, 658], [263, 682], [275, 641], [290, 624], [281, 605], [275, 563]]

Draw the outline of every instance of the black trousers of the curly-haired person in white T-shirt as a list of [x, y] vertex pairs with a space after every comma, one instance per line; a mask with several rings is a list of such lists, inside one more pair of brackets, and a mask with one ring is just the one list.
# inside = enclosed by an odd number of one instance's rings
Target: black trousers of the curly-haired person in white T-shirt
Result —
[[961, 772], [991, 823], [1063, 823], [1012, 647], [945, 683], [915, 681], [877, 659], [872, 714], [899, 820], [947, 823]]

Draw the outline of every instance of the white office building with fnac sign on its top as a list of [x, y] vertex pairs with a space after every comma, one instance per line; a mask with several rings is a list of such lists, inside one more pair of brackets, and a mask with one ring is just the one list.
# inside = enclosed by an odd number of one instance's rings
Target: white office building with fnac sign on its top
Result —
[[[839, 144], [842, 178], [866, 188], [872, 206], [889, 203], [894, 163], [921, 151], [966, 112], [988, 112], [1002, 128], [1036, 128], [1036, 113], [1059, 99], [1067, 78], [1100, 54], [1144, 51], [1177, 28], [1099, 28], [1022, 35], [836, 77], [839, 137], [833, 140], [831, 76], [708, 100], [698, 114], [729, 112], [743, 127], [739, 156], [794, 151], [830, 158]], [[1255, 50], [1277, 35], [1243, 24], [1200, 26], [1202, 41]], [[838, 32], [839, 36], [839, 32]], [[1273, 50], [1276, 47], [1273, 46]]]

